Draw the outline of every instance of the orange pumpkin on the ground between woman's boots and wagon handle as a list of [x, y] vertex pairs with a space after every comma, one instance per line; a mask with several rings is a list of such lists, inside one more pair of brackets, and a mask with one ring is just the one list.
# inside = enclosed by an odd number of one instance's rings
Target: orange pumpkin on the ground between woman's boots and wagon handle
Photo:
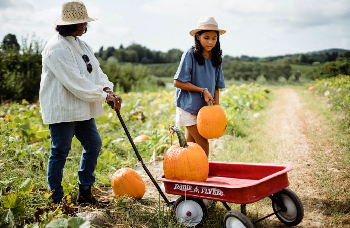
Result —
[[123, 197], [128, 195], [135, 199], [141, 199], [146, 191], [146, 186], [141, 176], [131, 168], [117, 170], [111, 179], [114, 195]]

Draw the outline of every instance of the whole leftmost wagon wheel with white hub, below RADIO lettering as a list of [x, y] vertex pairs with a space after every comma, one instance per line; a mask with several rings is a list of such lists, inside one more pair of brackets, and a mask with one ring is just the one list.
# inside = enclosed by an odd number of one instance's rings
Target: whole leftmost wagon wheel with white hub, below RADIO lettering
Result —
[[180, 197], [173, 205], [178, 221], [186, 227], [201, 227], [208, 214], [201, 199]]

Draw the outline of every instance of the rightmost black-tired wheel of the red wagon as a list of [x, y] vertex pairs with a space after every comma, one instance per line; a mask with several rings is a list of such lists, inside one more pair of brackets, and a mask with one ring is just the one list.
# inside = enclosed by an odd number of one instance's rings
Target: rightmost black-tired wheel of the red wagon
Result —
[[298, 225], [304, 217], [304, 207], [301, 203], [299, 197], [290, 189], [283, 189], [282, 191], [274, 194], [276, 196], [276, 200], [281, 199], [282, 204], [278, 206], [277, 202], [272, 201], [273, 211], [276, 212], [278, 210], [284, 209], [281, 212], [276, 214], [279, 221], [287, 226], [296, 226]]

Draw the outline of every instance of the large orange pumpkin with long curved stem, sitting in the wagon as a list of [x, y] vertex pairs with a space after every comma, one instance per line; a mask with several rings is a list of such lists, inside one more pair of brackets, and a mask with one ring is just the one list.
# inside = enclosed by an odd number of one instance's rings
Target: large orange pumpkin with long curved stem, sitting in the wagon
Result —
[[173, 125], [170, 132], [175, 132], [179, 144], [172, 145], [163, 161], [164, 175], [168, 179], [203, 182], [209, 175], [209, 160], [202, 147], [194, 142], [186, 142], [185, 136]]

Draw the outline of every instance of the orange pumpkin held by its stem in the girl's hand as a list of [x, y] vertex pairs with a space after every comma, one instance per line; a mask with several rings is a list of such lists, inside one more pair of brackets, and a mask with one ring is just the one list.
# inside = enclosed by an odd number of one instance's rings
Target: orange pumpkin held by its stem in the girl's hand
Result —
[[223, 136], [227, 128], [227, 119], [224, 109], [220, 105], [213, 105], [209, 100], [208, 106], [202, 107], [197, 115], [197, 129], [206, 139]]

